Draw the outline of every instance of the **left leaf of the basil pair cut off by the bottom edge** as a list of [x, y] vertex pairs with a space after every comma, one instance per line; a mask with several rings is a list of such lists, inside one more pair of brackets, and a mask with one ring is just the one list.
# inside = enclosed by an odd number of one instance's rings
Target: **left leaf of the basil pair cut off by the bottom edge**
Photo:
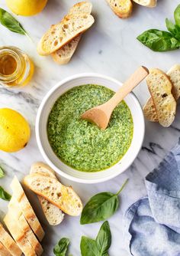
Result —
[[95, 240], [91, 238], [86, 238], [85, 236], [82, 236], [80, 248], [82, 256], [101, 256]]

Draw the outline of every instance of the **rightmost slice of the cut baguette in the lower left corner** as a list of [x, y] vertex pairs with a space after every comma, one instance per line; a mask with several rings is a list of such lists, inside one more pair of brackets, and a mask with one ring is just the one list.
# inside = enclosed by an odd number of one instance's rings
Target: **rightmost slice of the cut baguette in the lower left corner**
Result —
[[35, 215], [34, 209], [28, 201], [27, 196], [24, 193], [24, 189], [22, 188], [21, 183], [18, 181], [16, 176], [14, 176], [10, 186], [28, 224], [31, 226], [39, 241], [42, 241], [44, 236], [43, 228], [40, 225], [40, 222]]

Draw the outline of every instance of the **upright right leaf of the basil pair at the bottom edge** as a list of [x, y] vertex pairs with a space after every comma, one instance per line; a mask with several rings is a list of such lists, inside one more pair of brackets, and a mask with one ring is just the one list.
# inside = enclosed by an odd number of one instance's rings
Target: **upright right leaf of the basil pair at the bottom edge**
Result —
[[104, 222], [101, 225], [100, 231], [96, 238], [96, 245], [101, 255], [108, 254], [108, 249], [111, 246], [111, 230], [108, 222]]

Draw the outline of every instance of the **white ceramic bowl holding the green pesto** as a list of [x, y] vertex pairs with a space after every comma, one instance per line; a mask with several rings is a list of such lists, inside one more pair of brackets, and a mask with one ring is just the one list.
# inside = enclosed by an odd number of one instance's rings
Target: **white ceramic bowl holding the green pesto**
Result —
[[53, 153], [53, 149], [51, 149], [47, 138], [47, 119], [53, 104], [59, 98], [59, 96], [64, 94], [72, 87], [82, 84], [99, 84], [114, 91], [117, 91], [122, 85], [121, 82], [101, 74], [77, 74], [61, 80], [47, 93], [46, 97], [44, 97], [42, 103], [40, 104], [36, 121], [37, 144], [39, 146], [40, 153], [43, 155], [46, 162], [57, 173], [59, 173], [59, 175], [65, 177], [66, 179], [81, 183], [104, 182], [124, 172], [132, 164], [133, 160], [140, 152], [145, 130], [143, 111], [137, 97], [135, 97], [133, 93], [130, 93], [124, 99], [127, 106], [130, 108], [133, 117], [133, 139], [127, 153], [119, 162], [117, 162], [116, 165], [101, 172], [80, 172], [76, 169], [72, 169], [61, 162], [56, 154]]

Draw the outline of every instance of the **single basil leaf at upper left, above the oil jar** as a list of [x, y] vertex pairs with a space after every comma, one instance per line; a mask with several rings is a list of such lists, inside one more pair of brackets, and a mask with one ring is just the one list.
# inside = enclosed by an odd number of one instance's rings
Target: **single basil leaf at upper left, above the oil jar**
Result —
[[27, 34], [19, 21], [17, 21], [8, 11], [0, 8], [0, 22], [5, 28], [18, 34]]

